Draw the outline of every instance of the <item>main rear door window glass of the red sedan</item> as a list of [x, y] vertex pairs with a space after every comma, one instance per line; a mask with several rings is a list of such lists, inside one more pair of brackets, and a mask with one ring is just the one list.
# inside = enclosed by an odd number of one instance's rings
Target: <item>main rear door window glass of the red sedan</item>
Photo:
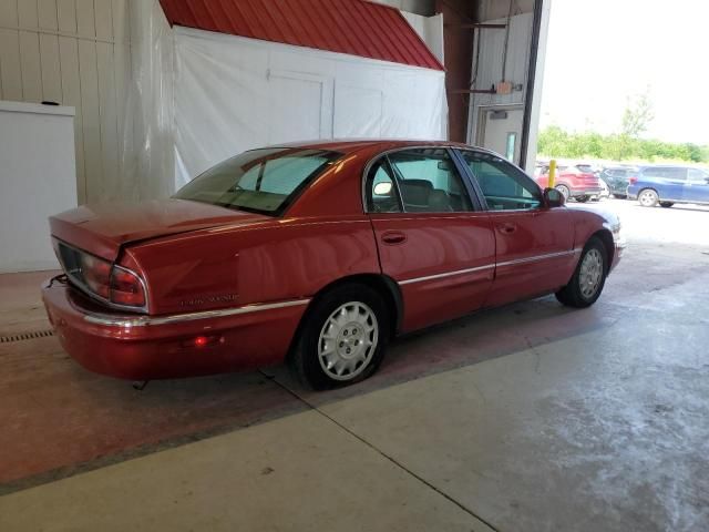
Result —
[[460, 213], [473, 206], [445, 149], [417, 149], [388, 155], [391, 173], [408, 213]]

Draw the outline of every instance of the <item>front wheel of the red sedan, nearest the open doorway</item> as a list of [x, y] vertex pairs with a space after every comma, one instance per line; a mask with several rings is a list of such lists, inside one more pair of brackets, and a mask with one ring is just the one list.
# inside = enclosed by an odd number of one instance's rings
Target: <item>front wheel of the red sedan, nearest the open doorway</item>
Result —
[[580, 255], [568, 285], [556, 293], [563, 305], [586, 308], [596, 303], [606, 284], [608, 253], [597, 237], [592, 237]]

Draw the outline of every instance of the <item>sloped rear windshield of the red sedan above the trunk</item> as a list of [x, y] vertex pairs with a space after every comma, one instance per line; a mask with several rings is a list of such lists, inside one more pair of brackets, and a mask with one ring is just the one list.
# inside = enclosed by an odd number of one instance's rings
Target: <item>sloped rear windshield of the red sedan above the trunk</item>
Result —
[[207, 170], [173, 197], [277, 216], [340, 156], [300, 147], [251, 150]]

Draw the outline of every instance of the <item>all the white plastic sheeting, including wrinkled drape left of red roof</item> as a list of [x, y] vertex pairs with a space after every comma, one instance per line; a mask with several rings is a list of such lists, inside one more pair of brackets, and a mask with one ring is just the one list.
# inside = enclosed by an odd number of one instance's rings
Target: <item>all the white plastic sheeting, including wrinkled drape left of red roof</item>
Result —
[[131, 9], [133, 123], [123, 136], [125, 198], [169, 195], [254, 147], [448, 136], [442, 71], [171, 29], [157, 1], [131, 2]]

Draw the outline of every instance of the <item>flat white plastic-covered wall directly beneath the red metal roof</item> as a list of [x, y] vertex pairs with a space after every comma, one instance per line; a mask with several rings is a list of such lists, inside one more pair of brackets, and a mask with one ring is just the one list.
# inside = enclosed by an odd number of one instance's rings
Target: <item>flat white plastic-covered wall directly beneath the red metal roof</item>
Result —
[[444, 72], [175, 28], [179, 186], [236, 153], [343, 137], [444, 139]]

